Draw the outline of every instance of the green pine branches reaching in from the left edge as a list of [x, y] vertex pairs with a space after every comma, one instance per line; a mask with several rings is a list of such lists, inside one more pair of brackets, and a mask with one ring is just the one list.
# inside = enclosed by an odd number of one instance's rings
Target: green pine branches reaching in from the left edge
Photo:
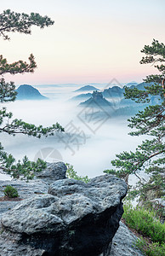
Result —
[[[31, 34], [31, 26], [52, 26], [54, 21], [48, 16], [41, 16], [39, 14], [31, 13], [31, 15], [20, 14], [12, 12], [10, 9], [3, 11], [0, 15], [0, 36], [4, 40], [9, 40], [9, 32], [20, 32]], [[6, 82], [3, 75], [6, 73], [33, 73], [37, 67], [34, 56], [31, 54], [29, 63], [26, 61], [15, 61], [9, 63], [3, 55], [0, 55], [0, 102], [14, 102], [16, 98], [16, 91], [14, 82]], [[40, 138], [54, 135], [55, 131], [64, 131], [59, 123], [50, 127], [43, 127], [43, 125], [31, 125], [21, 119], [13, 119], [13, 114], [7, 111], [7, 108], [0, 109], [0, 132], [8, 133], [10, 135], [25, 134]], [[24, 176], [27, 179], [32, 178], [35, 172], [40, 172], [46, 167], [43, 160], [32, 162], [25, 156], [22, 161], [16, 162], [11, 154], [7, 154], [2, 144], [0, 143], [0, 170], [10, 174], [12, 177]]]

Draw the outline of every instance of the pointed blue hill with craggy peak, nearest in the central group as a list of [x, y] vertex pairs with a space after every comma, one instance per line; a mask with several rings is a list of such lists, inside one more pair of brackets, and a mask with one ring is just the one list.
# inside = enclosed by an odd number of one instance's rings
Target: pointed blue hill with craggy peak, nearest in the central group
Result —
[[100, 107], [108, 108], [113, 106], [113, 104], [111, 102], [106, 101], [102, 93], [96, 90], [93, 92], [92, 97], [90, 99], [80, 103], [79, 106], [80, 107], [90, 106], [90, 108], [100, 108]]

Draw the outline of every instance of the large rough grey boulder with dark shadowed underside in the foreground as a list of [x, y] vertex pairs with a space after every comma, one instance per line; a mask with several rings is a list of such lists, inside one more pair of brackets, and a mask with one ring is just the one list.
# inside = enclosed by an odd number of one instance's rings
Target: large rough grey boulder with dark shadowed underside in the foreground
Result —
[[57, 180], [48, 194], [32, 196], [3, 214], [0, 252], [108, 256], [126, 193], [126, 183], [111, 175], [88, 184]]

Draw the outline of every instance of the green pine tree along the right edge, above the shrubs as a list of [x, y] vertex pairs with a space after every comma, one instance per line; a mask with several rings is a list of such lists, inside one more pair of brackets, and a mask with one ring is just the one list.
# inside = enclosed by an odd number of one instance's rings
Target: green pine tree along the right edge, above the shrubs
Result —
[[[129, 175], [134, 174], [139, 178], [139, 183], [130, 195], [140, 195], [140, 200], [145, 201], [148, 190], [154, 192], [155, 197], [164, 195], [165, 45], [153, 39], [151, 46], [145, 45], [141, 52], [145, 56], [140, 63], [151, 63], [159, 74], [146, 77], [145, 90], [125, 87], [124, 96], [135, 102], [149, 102], [149, 106], [144, 111], [139, 111], [134, 117], [128, 119], [128, 126], [135, 128], [129, 133], [131, 136], [147, 135], [151, 140], [143, 141], [135, 152], [117, 154], [117, 159], [111, 161], [115, 169], [105, 170], [105, 172], [122, 177], [127, 183]], [[158, 103], [151, 105], [151, 96], [156, 96]], [[140, 175], [142, 170], [148, 174], [146, 180]]]

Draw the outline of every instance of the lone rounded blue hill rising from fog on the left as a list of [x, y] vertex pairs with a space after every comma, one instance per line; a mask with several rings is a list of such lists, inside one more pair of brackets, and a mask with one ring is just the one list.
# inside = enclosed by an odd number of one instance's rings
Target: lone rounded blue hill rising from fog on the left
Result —
[[20, 87], [16, 90], [17, 91], [17, 100], [46, 100], [47, 97], [41, 95], [39, 90], [32, 87], [28, 84], [22, 84]]

